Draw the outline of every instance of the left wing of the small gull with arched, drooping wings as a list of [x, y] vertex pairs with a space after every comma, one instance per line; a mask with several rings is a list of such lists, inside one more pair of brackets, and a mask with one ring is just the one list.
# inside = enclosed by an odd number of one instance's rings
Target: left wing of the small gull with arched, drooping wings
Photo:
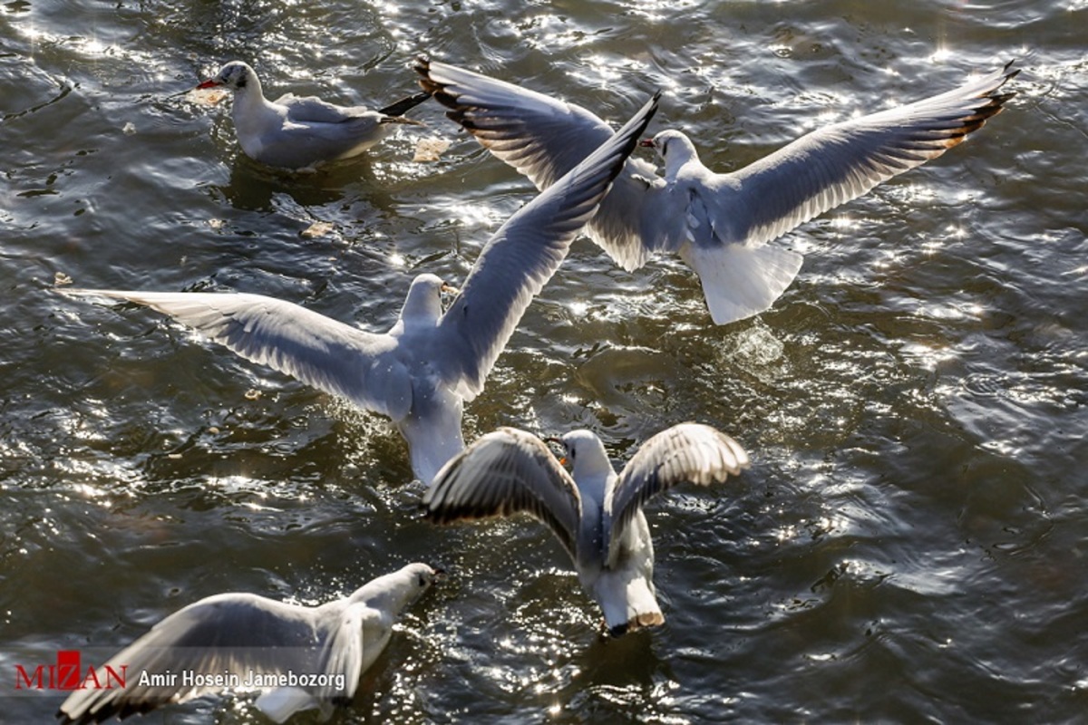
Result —
[[450, 459], [423, 496], [436, 524], [528, 513], [546, 524], [571, 559], [582, 500], [578, 486], [534, 435], [498, 428]]

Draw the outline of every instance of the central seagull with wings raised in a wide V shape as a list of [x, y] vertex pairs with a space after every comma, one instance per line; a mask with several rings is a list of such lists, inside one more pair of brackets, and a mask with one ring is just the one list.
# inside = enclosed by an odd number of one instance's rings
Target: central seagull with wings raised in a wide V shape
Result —
[[261, 295], [71, 289], [145, 304], [247, 360], [269, 365], [393, 418], [415, 475], [429, 484], [465, 448], [462, 403], [478, 396], [522, 313], [559, 267], [578, 232], [657, 110], [655, 95], [616, 135], [522, 207], [477, 259], [449, 309], [452, 289], [417, 276], [384, 334], [363, 332]]

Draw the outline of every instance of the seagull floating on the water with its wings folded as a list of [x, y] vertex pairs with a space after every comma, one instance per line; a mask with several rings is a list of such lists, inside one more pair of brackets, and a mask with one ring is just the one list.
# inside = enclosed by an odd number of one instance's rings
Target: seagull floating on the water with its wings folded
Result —
[[380, 111], [293, 93], [269, 101], [257, 72], [242, 61], [231, 61], [197, 85], [217, 87], [234, 92], [232, 115], [242, 150], [269, 166], [292, 170], [358, 155], [378, 143], [390, 124], [422, 126], [403, 114], [431, 97], [416, 93]]

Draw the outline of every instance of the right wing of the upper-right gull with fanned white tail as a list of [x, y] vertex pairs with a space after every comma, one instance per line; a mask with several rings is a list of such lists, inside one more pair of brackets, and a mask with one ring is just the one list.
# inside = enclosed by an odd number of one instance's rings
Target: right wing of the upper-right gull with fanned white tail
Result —
[[715, 224], [731, 230], [730, 241], [762, 245], [936, 159], [1001, 112], [1013, 93], [997, 91], [1018, 73], [1010, 65], [940, 96], [826, 126], [725, 175], [737, 197], [717, 205]]

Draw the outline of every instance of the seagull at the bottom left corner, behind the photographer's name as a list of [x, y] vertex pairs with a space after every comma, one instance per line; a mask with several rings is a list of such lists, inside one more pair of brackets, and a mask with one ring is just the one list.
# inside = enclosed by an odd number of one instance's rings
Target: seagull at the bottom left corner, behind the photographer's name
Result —
[[408, 564], [320, 607], [237, 591], [207, 597], [103, 665], [125, 668], [124, 687], [77, 690], [57, 716], [65, 724], [101, 723], [231, 687], [261, 690], [257, 708], [276, 723], [312, 708], [327, 720], [334, 705], [351, 701], [400, 613], [440, 574]]

